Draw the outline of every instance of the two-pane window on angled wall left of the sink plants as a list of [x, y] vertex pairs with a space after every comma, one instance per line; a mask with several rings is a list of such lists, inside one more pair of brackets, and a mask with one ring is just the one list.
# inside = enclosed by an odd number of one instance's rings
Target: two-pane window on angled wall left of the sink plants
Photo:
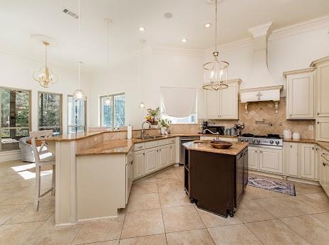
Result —
[[125, 125], [125, 94], [109, 94], [100, 97], [100, 126]]

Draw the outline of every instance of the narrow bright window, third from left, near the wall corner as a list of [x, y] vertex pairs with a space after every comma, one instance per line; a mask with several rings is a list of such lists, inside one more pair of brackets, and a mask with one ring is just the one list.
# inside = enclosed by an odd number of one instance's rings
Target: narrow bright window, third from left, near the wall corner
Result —
[[74, 100], [72, 95], [68, 95], [68, 133], [85, 131], [86, 103], [82, 100]]

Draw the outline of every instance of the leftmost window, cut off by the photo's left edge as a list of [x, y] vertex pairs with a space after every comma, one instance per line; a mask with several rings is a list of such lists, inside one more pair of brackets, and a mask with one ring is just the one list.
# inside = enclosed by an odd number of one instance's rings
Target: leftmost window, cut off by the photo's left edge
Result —
[[30, 131], [31, 92], [0, 87], [0, 151], [19, 149], [19, 138]]

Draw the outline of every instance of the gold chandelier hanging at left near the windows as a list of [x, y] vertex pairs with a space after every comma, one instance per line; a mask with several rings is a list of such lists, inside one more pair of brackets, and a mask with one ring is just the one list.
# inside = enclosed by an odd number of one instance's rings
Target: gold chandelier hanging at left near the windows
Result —
[[36, 80], [36, 82], [38, 82], [42, 87], [51, 87], [53, 83], [58, 81], [58, 75], [53, 73], [51, 68], [48, 67], [47, 47], [49, 43], [46, 41], [42, 41], [42, 43], [46, 47], [46, 64], [44, 67], [41, 67], [40, 70], [33, 73], [33, 79]]

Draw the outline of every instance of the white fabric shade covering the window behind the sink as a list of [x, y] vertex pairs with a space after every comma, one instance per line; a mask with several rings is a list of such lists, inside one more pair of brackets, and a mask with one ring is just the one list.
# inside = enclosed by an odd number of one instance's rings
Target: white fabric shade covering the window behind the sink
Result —
[[197, 89], [161, 87], [161, 112], [183, 118], [197, 113]]

